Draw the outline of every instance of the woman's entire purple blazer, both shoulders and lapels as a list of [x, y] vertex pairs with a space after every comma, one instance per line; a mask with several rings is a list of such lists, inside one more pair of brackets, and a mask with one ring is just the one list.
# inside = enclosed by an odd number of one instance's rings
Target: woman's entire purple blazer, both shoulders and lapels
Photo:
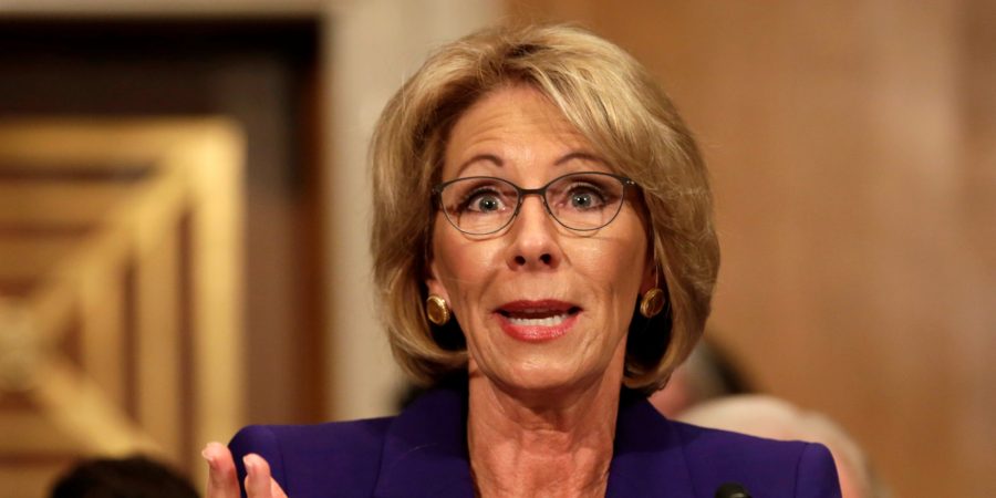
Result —
[[[436, 388], [396, 417], [249, 426], [229, 447], [239, 483], [242, 456], [256, 453], [290, 498], [470, 498], [466, 406], [466, 391]], [[728, 481], [755, 498], [840, 497], [822, 445], [672, 422], [643, 398], [621, 403], [606, 497], [713, 498]]]

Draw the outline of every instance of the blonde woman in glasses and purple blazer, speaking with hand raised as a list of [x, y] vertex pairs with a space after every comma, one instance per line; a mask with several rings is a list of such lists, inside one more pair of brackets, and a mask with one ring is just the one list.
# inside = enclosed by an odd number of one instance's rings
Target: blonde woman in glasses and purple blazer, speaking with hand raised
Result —
[[253, 498], [839, 496], [822, 446], [645, 401], [702, 334], [718, 247], [699, 153], [619, 48], [566, 27], [467, 37], [372, 147], [378, 301], [396, 359], [436, 388], [397, 417], [248, 427], [238, 470], [209, 445], [209, 497], [246, 469]]

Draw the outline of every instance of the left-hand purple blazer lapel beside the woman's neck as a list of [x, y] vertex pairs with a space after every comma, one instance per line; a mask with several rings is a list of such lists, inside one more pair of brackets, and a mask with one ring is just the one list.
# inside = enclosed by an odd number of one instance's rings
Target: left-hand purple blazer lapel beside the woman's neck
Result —
[[459, 391], [439, 388], [402, 412], [384, 439], [374, 497], [473, 497], [466, 405]]

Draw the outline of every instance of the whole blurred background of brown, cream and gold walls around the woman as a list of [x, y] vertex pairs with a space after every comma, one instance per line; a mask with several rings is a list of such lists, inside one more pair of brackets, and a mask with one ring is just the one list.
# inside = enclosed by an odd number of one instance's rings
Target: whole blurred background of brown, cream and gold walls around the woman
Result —
[[996, 2], [0, 1], [0, 497], [195, 481], [247, 423], [393, 413], [365, 148], [439, 43], [570, 21], [714, 178], [712, 340], [896, 497], [996, 491]]

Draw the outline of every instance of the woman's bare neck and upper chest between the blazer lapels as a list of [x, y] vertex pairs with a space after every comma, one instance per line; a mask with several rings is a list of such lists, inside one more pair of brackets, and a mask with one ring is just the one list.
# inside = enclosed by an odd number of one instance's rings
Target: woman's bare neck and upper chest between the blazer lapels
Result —
[[605, 496], [621, 381], [620, 372], [522, 393], [471, 375], [467, 438], [479, 496]]

